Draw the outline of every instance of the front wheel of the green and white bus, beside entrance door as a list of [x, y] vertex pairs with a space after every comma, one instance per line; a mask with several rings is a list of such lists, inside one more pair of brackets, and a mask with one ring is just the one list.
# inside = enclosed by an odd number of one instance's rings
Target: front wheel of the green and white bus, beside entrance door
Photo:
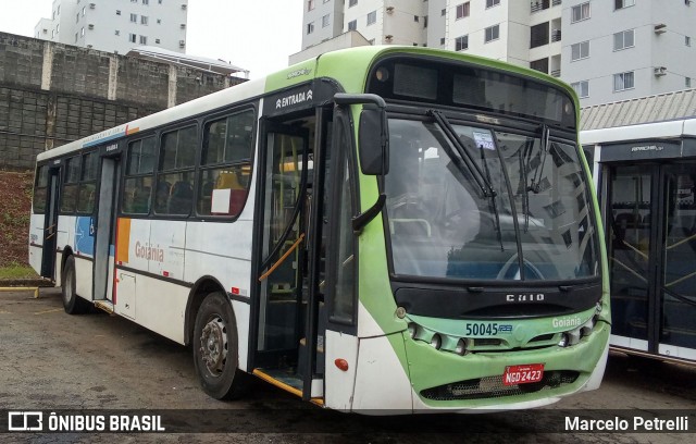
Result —
[[232, 305], [222, 292], [203, 299], [194, 326], [194, 363], [209, 396], [229, 399], [241, 394], [244, 372], [238, 369], [237, 323]]

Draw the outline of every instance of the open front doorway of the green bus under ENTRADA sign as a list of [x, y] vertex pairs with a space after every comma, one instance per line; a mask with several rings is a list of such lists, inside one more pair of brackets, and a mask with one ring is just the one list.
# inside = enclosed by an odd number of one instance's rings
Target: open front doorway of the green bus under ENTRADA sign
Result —
[[260, 175], [263, 227], [254, 276], [260, 284], [258, 330], [256, 337], [253, 330], [251, 334], [253, 367], [301, 392], [297, 367], [307, 297], [309, 133], [270, 122], [264, 130], [265, 161]]

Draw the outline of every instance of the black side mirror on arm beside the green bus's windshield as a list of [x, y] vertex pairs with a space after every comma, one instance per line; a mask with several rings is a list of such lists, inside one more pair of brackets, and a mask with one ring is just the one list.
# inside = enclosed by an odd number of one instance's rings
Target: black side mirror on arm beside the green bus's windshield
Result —
[[360, 113], [358, 155], [360, 171], [366, 175], [385, 175], [389, 172], [389, 130], [386, 103], [374, 94], [336, 94], [338, 106], [363, 104]]

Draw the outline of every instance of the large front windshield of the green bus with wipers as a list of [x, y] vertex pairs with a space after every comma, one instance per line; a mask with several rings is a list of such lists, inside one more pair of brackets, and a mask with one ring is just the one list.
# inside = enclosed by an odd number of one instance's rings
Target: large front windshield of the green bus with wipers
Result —
[[545, 125], [537, 134], [449, 127], [448, 138], [435, 121], [389, 120], [394, 274], [475, 281], [599, 274], [575, 144], [550, 138]]

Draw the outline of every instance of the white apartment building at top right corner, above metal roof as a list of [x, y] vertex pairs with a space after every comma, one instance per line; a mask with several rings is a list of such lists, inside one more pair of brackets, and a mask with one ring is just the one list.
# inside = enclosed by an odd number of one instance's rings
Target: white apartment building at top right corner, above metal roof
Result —
[[564, 0], [561, 73], [583, 107], [696, 87], [693, 0]]

